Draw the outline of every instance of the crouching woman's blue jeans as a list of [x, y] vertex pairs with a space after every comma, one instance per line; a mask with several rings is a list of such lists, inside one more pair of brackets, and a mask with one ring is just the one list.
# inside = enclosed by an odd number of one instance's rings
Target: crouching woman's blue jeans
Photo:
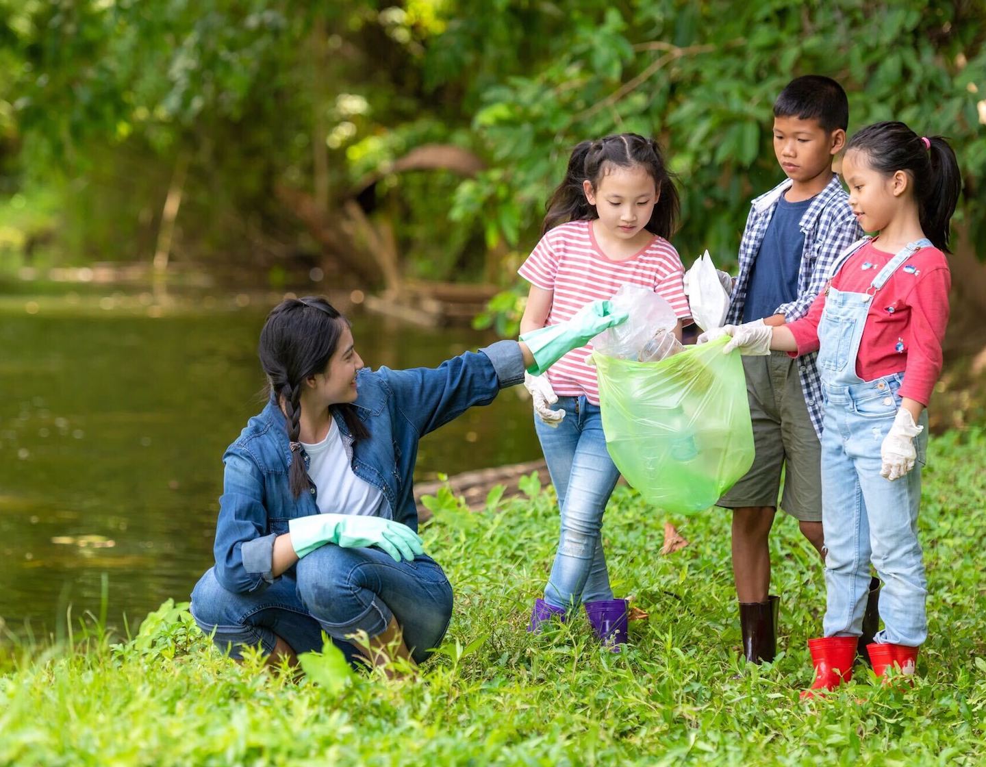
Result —
[[243, 645], [270, 653], [276, 637], [296, 654], [321, 650], [324, 631], [350, 663], [356, 650], [346, 639], [358, 631], [375, 637], [393, 617], [422, 662], [449, 627], [452, 586], [431, 557], [398, 563], [378, 548], [326, 544], [257, 592], [228, 592], [210, 568], [192, 591], [191, 614], [233, 658]]

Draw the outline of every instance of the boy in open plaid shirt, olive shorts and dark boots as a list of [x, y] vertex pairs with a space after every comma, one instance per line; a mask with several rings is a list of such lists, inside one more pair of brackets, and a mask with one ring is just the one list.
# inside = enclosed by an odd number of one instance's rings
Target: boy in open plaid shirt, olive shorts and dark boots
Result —
[[[849, 103], [827, 77], [793, 80], [774, 103], [774, 154], [788, 176], [752, 201], [740, 242], [740, 275], [727, 322], [777, 325], [808, 313], [839, 255], [863, 233], [835, 174], [845, 145]], [[720, 499], [733, 510], [733, 574], [740, 600], [743, 654], [772, 661], [779, 597], [770, 595], [768, 537], [778, 506], [798, 520], [823, 556], [821, 387], [815, 355], [743, 357], [755, 457]]]

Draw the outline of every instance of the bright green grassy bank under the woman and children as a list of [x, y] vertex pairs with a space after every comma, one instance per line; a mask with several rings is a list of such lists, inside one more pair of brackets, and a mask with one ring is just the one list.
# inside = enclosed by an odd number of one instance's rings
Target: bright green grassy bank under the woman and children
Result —
[[[933, 440], [922, 540], [930, 638], [913, 688], [856, 680], [803, 704], [821, 567], [790, 520], [775, 526], [784, 651], [746, 666], [728, 518], [671, 519], [691, 545], [660, 555], [666, 517], [620, 489], [605, 540], [617, 593], [648, 612], [631, 648], [600, 651], [584, 616], [524, 632], [557, 535], [552, 494], [471, 515], [442, 493], [424, 536], [456, 589], [441, 653], [420, 676], [339, 674], [310, 657], [300, 682], [220, 657], [182, 605], [112, 647], [99, 618], [74, 650], [13, 648], [0, 675], [0, 763], [981, 764], [986, 753], [986, 432]], [[83, 636], [78, 632], [84, 631]], [[317, 683], [315, 680], [319, 680]]]

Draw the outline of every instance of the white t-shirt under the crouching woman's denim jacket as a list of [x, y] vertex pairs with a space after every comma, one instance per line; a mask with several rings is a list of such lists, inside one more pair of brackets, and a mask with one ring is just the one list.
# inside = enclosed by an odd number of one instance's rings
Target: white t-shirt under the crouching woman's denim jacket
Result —
[[309, 456], [308, 473], [317, 487], [320, 514], [388, 516], [380, 489], [353, 473], [335, 419], [329, 420], [324, 440], [317, 445], [302, 443], [302, 447]]

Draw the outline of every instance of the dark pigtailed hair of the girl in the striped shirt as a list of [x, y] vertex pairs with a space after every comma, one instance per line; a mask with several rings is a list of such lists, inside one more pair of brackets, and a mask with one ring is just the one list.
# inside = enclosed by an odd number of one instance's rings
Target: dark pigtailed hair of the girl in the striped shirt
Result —
[[654, 178], [658, 192], [658, 204], [654, 206], [651, 220], [644, 227], [652, 235], [669, 240], [677, 227], [678, 203], [674, 176], [668, 170], [661, 147], [654, 139], [636, 133], [620, 133], [605, 136], [596, 141], [583, 141], [572, 150], [565, 179], [551, 194], [546, 207], [541, 235], [568, 221], [591, 221], [599, 218], [595, 205], [586, 199], [583, 181], [589, 180], [593, 188], [599, 188], [599, 179], [612, 167], [643, 168]]

